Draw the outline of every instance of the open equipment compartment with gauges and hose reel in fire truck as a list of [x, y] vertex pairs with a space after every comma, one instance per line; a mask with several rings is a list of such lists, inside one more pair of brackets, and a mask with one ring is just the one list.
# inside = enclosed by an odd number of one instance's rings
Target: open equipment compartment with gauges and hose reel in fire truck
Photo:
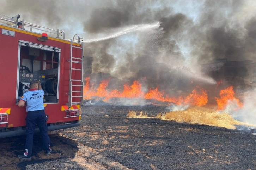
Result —
[[40, 81], [44, 103], [59, 101], [60, 49], [31, 42], [19, 42], [19, 79], [17, 101], [29, 89], [31, 81]]

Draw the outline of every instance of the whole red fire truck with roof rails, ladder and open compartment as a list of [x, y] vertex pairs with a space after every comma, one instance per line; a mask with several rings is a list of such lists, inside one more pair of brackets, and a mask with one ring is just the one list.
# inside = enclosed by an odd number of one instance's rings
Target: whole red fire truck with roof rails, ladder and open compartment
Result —
[[[26, 134], [26, 109], [18, 107], [33, 80], [41, 82], [49, 134], [79, 126], [83, 105], [83, 42], [0, 14], [0, 138]], [[49, 34], [49, 35], [48, 35]], [[77, 39], [74, 39], [77, 38]], [[39, 132], [36, 128], [35, 133]]]

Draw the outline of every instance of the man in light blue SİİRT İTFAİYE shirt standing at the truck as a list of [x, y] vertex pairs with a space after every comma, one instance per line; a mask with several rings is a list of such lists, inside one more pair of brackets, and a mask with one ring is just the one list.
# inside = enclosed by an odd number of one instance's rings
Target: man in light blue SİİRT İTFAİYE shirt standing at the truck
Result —
[[46, 115], [43, 106], [43, 95], [44, 91], [40, 82], [31, 81], [29, 91], [24, 93], [19, 100], [18, 106], [23, 107], [26, 105], [26, 111], [28, 112], [26, 117], [26, 151], [23, 155], [18, 156], [21, 159], [31, 159], [36, 124], [43, 138], [45, 154], [49, 155], [51, 153], [50, 138], [48, 136]]

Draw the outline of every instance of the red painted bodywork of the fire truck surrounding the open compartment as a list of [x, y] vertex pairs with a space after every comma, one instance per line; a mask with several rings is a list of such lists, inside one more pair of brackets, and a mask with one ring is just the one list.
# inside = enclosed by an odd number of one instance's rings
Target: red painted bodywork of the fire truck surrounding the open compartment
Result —
[[[5, 34], [6, 30], [11, 32], [10, 35]], [[18, 67], [19, 65], [23, 65], [24, 59], [29, 60], [29, 55], [27, 55], [26, 51], [28, 51], [30, 47], [29, 45], [28, 47], [21, 47], [19, 45], [20, 41], [38, 44], [38, 46], [43, 45], [60, 49], [59, 53], [54, 53], [59, 54], [59, 57], [57, 57], [58, 61], [54, 62], [53, 57], [52, 61], [50, 62], [51, 59], [47, 59], [47, 56], [44, 56], [45, 53], [51, 53], [47, 50], [41, 50], [39, 56], [37, 56], [35, 59], [37, 63], [40, 63], [38, 64], [38, 67], [41, 67], [41, 70], [51, 69], [51, 66], [53, 66], [52, 68], [56, 67], [56, 69], [59, 69], [59, 77], [57, 78], [57, 86], [59, 89], [58, 95], [55, 97], [58, 100], [56, 100], [56, 102], [48, 102], [49, 104], [47, 102], [45, 103], [45, 113], [48, 115], [47, 124], [78, 121], [81, 118], [81, 116], [65, 118], [67, 112], [62, 107], [65, 106], [69, 101], [70, 71], [72, 71], [72, 75], [74, 76], [72, 79], [81, 79], [83, 74], [82, 71], [79, 72], [77, 70], [70, 69], [71, 41], [48, 37], [48, 40], [43, 42], [38, 40], [40, 37], [41, 34], [39, 33], [26, 31], [11, 26], [0, 25], [0, 108], [10, 108], [10, 113], [8, 113], [8, 123], [0, 124], [0, 129], [5, 126], [7, 126], [7, 128], [26, 126], [26, 109], [25, 107], [18, 107], [17, 105], [17, 81], [19, 79]], [[82, 44], [73, 43], [73, 46], [82, 47]], [[81, 48], [73, 48], [72, 52], [73, 56], [83, 59], [83, 52]], [[20, 58], [23, 59], [20, 60], [20, 62], [19, 55]], [[48, 56], [48, 58], [50, 57]], [[72, 63], [72, 67], [80, 67], [80, 65], [77, 63]], [[77, 87], [77, 89], [74, 90], [80, 90], [79, 88], [81, 87]], [[80, 105], [77, 107], [80, 108]]]

